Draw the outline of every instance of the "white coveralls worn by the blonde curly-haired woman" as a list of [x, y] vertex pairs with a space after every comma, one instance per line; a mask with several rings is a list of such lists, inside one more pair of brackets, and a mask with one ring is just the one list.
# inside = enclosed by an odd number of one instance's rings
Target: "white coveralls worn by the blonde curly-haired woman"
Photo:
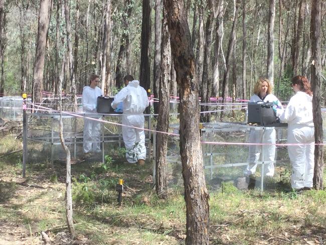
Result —
[[[277, 103], [279, 107], [282, 108], [281, 102], [276, 98], [273, 94], [267, 94], [264, 100], [254, 94], [251, 96], [249, 102], [274, 102]], [[275, 144], [276, 133], [274, 129], [251, 129], [249, 135], [249, 142], [250, 143], [270, 143]], [[257, 169], [257, 162], [259, 157], [262, 154], [261, 161], [269, 163], [264, 164], [264, 175], [266, 176], [273, 176], [274, 175], [274, 159], [275, 159], [275, 145], [250, 145], [249, 146], [249, 157], [248, 162], [249, 165], [245, 170], [245, 175], [251, 175], [256, 172]]]

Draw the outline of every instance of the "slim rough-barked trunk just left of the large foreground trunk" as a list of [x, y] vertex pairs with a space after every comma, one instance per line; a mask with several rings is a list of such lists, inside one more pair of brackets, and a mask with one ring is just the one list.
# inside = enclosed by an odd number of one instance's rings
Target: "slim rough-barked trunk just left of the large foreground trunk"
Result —
[[[159, 132], [169, 132], [169, 111], [170, 111], [170, 72], [171, 72], [171, 46], [170, 33], [167, 23], [167, 12], [164, 10], [161, 24], [161, 60], [160, 60], [160, 80], [159, 80], [159, 114], [157, 117], [156, 130]], [[156, 144], [156, 175], [155, 190], [159, 198], [168, 197], [168, 175], [167, 175], [167, 154], [168, 138], [167, 134], [157, 133]]]

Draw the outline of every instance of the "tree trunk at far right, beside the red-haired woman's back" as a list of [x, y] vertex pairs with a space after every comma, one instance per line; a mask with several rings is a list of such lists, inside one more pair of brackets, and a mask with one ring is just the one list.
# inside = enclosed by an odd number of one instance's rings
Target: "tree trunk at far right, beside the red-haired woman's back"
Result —
[[[314, 142], [323, 143], [322, 117], [321, 117], [321, 1], [311, 0], [311, 21], [310, 21], [310, 39], [311, 39], [311, 86], [312, 86], [312, 112], [314, 124]], [[322, 145], [315, 145], [314, 148], [314, 171], [313, 187], [317, 190], [322, 189], [323, 175], [323, 152]]]

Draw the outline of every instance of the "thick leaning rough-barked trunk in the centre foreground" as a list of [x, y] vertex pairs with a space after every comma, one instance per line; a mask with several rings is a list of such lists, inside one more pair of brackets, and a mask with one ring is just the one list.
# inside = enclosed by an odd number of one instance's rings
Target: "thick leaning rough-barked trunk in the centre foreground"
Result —
[[183, 1], [165, 0], [171, 50], [180, 86], [180, 154], [185, 186], [186, 245], [209, 244], [209, 194], [199, 134], [199, 84]]

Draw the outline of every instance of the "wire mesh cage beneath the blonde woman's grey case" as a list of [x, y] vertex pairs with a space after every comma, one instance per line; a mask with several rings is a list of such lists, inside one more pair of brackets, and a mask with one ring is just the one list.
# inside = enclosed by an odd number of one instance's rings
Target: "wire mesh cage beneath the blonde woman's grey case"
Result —
[[[221, 187], [223, 182], [230, 182], [239, 189], [248, 188], [248, 176], [245, 175], [247, 168], [250, 130], [263, 130], [263, 127], [248, 126], [245, 124], [233, 124], [226, 122], [207, 123], [201, 132], [204, 174], [209, 190], [214, 191]], [[179, 133], [178, 126], [173, 125], [172, 131]], [[286, 129], [276, 128], [276, 143], [286, 143]], [[214, 144], [219, 143], [244, 143], [244, 145]], [[168, 178], [169, 186], [182, 186], [182, 166], [180, 158], [179, 137], [169, 136], [168, 143]], [[262, 168], [266, 163], [257, 162], [255, 180], [257, 189], [275, 189], [276, 183], [284, 178], [289, 179], [290, 164], [287, 148], [276, 147], [275, 174], [273, 178], [262, 176]]]

